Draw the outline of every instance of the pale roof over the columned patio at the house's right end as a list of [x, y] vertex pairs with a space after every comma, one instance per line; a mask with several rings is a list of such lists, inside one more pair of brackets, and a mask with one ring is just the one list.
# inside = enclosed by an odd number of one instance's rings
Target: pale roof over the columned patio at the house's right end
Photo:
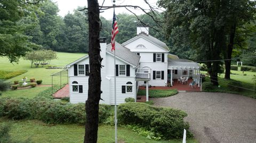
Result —
[[168, 58], [168, 70], [199, 70], [201, 66], [193, 61], [186, 59], [170, 59]]

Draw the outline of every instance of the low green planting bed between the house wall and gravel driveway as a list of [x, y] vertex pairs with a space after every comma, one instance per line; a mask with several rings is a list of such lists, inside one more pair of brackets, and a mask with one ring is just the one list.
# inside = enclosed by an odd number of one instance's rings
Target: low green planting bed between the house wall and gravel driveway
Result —
[[[168, 89], [168, 90], [148, 90], [148, 95], [151, 98], [161, 98], [161, 97], [169, 97], [178, 94], [177, 89]], [[146, 95], [146, 90], [138, 90], [137, 95]]]

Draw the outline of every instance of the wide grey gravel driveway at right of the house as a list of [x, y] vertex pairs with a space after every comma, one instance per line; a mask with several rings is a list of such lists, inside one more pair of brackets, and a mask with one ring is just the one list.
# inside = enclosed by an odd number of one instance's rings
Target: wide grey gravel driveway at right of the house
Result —
[[256, 99], [225, 93], [186, 92], [151, 98], [156, 106], [186, 111], [199, 142], [256, 142]]

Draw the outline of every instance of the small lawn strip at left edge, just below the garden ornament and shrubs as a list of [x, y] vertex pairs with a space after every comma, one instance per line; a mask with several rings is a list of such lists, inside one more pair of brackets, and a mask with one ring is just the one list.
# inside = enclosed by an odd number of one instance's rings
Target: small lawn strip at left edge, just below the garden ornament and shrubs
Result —
[[19, 90], [8, 90], [2, 92], [1, 97], [25, 97], [25, 98], [34, 98], [39, 92], [46, 90], [49, 87], [34, 87], [28, 89], [19, 89]]

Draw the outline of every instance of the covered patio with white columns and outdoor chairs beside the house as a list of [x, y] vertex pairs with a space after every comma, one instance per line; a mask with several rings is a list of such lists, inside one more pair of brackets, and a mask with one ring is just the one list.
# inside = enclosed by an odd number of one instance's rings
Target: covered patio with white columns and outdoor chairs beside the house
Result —
[[179, 83], [182, 83], [182, 85], [189, 84], [193, 80], [198, 87], [201, 86], [200, 65], [198, 63], [186, 59], [168, 59], [167, 69], [167, 83], [170, 83], [171, 86], [178, 86]]

